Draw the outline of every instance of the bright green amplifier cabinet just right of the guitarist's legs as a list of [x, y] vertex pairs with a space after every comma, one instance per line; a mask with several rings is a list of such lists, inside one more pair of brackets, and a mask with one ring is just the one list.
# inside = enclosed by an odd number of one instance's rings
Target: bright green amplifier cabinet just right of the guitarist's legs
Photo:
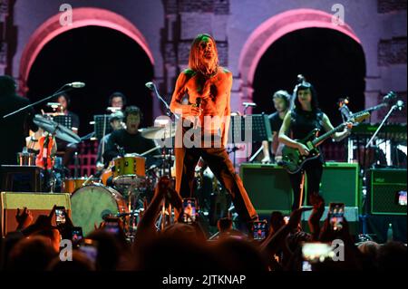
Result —
[[325, 198], [325, 204], [337, 202], [345, 203], [346, 207], [360, 207], [358, 175], [358, 164], [327, 161], [320, 182], [320, 192]]

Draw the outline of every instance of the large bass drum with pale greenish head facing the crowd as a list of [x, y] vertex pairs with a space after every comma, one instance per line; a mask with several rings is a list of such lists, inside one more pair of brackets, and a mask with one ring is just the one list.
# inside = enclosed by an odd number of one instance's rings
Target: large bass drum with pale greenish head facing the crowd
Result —
[[91, 185], [78, 188], [71, 196], [73, 226], [83, 227], [83, 236], [99, 227], [103, 217], [128, 213], [128, 207], [121, 194], [110, 187]]

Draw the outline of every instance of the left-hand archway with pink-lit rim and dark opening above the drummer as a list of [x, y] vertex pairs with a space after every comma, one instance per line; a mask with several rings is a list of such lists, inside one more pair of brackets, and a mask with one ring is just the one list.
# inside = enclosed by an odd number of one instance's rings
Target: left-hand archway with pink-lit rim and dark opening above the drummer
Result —
[[[73, 9], [73, 24], [63, 26], [60, 14], [36, 29], [20, 63], [20, 90], [32, 101], [66, 82], [86, 82], [73, 91], [73, 111], [84, 115], [81, 134], [92, 127], [92, 115], [103, 113], [114, 91], [140, 105], [151, 124], [152, 103], [144, 83], [153, 78], [154, 61], [138, 29], [119, 14], [99, 8]], [[81, 116], [81, 115], [80, 115]]]

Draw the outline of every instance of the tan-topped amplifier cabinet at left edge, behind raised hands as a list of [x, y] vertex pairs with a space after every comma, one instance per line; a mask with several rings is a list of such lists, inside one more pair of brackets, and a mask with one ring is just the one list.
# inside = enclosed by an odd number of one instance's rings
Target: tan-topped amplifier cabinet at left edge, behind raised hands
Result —
[[[0, 194], [2, 236], [15, 231], [17, 208], [27, 207], [35, 221], [39, 215], [50, 214], [53, 205], [65, 207], [68, 216], [71, 216], [70, 194], [2, 192]], [[54, 222], [53, 219], [53, 226]]]

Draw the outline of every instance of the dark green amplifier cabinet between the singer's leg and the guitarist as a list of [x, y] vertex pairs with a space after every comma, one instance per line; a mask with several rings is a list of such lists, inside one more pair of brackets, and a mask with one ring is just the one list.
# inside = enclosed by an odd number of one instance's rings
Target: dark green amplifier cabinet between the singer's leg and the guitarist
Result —
[[239, 172], [258, 214], [290, 214], [293, 193], [285, 169], [275, 164], [242, 163]]

